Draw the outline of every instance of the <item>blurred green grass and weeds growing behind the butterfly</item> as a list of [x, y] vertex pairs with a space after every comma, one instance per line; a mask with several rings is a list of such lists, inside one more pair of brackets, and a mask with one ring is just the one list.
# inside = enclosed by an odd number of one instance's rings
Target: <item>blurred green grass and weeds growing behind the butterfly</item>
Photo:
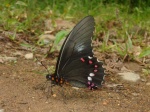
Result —
[[[43, 40], [36, 38], [47, 30], [44, 27], [46, 19], [51, 19], [51, 25], [55, 26], [56, 18], [74, 22], [87, 15], [93, 15], [96, 20], [94, 40], [100, 32], [106, 32], [103, 35], [102, 46], [99, 48], [100, 52], [116, 52], [123, 57], [129, 55], [133, 58], [131, 52], [133, 46], [140, 46], [142, 52], [139, 58], [150, 54], [148, 44], [143, 43], [146, 33], [148, 38], [150, 31], [148, 0], [137, 0], [134, 3], [132, 0], [2, 0], [1, 2], [0, 28], [2, 31], [12, 32], [13, 35], [9, 36], [12, 41], [15, 41], [18, 33], [22, 33], [29, 37], [30, 41], [36, 41], [33, 43], [39, 46], [45, 45]], [[135, 27], [141, 30], [134, 30]], [[58, 30], [61, 29], [55, 27], [52, 32], [55, 34]], [[117, 31], [115, 37], [111, 36], [111, 31]], [[56, 34], [50, 52], [56, 50], [55, 47], [65, 35], [64, 31]], [[109, 44], [110, 39], [113, 40], [112, 44]], [[122, 42], [117, 40], [122, 40]]]

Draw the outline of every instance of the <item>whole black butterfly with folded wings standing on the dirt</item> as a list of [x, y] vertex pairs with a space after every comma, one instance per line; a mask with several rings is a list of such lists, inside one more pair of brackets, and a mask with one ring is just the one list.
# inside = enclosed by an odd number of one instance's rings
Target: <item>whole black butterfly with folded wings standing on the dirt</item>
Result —
[[57, 61], [55, 73], [46, 76], [57, 85], [68, 82], [77, 87], [97, 89], [104, 81], [104, 68], [92, 52], [95, 22], [92, 16], [82, 19], [65, 39]]

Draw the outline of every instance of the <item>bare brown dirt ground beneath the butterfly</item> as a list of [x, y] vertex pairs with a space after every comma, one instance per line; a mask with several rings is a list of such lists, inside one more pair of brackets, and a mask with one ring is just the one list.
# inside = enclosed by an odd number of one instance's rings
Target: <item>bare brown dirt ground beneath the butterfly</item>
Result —
[[[37, 55], [42, 59], [43, 49], [45, 48], [40, 48], [34, 56]], [[47, 72], [34, 58], [31, 60], [24, 58], [24, 55], [30, 52], [14, 46], [14, 43], [0, 41], [1, 57], [17, 57], [16, 61], [0, 62], [0, 110], [4, 109], [4, 112], [150, 112], [150, 75], [140, 74], [141, 80], [128, 82], [120, 79], [117, 73], [111, 74], [106, 76], [103, 88], [97, 91], [55, 86], [53, 87], [55, 96], [47, 98], [48, 95], [42, 89], [46, 81], [44, 74]], [[44, 64], [55, 66], [56, 58], [44, 59]], [[131, 68], [134, 66], [133, 68], [140, 73], [141, 66], [137, 63], [126, 63], [126, 66]]]

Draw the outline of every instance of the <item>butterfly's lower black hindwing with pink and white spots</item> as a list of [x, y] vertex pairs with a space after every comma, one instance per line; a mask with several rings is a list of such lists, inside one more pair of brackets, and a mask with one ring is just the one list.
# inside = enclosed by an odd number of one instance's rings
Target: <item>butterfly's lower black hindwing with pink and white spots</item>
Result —
[[[100, 87], [103, 82], [104, 68], [102, 68], [102, 63], [97, 61], [97, 58], [83, 57], [72, 60], [62, 71], [62, 74], [64, 74], [64, 79], [67, 82], [76, 81], [84, 85], [87, 85], [88, 77], [91, 77], [91, 82]], [[94, 76], [90, 76], [90, 74]]]

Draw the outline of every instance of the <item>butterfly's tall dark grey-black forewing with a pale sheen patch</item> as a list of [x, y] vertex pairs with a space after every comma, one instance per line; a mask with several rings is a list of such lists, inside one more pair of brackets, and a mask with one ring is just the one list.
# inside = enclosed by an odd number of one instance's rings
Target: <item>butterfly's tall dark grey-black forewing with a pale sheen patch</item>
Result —
[[94, 18], [88, 16], [81, 20], [69, 33], [60, 50], [55, 75], [59, 77], [72, 59], [93, 55], [91, 37], [93, 36], [94, 25]]

